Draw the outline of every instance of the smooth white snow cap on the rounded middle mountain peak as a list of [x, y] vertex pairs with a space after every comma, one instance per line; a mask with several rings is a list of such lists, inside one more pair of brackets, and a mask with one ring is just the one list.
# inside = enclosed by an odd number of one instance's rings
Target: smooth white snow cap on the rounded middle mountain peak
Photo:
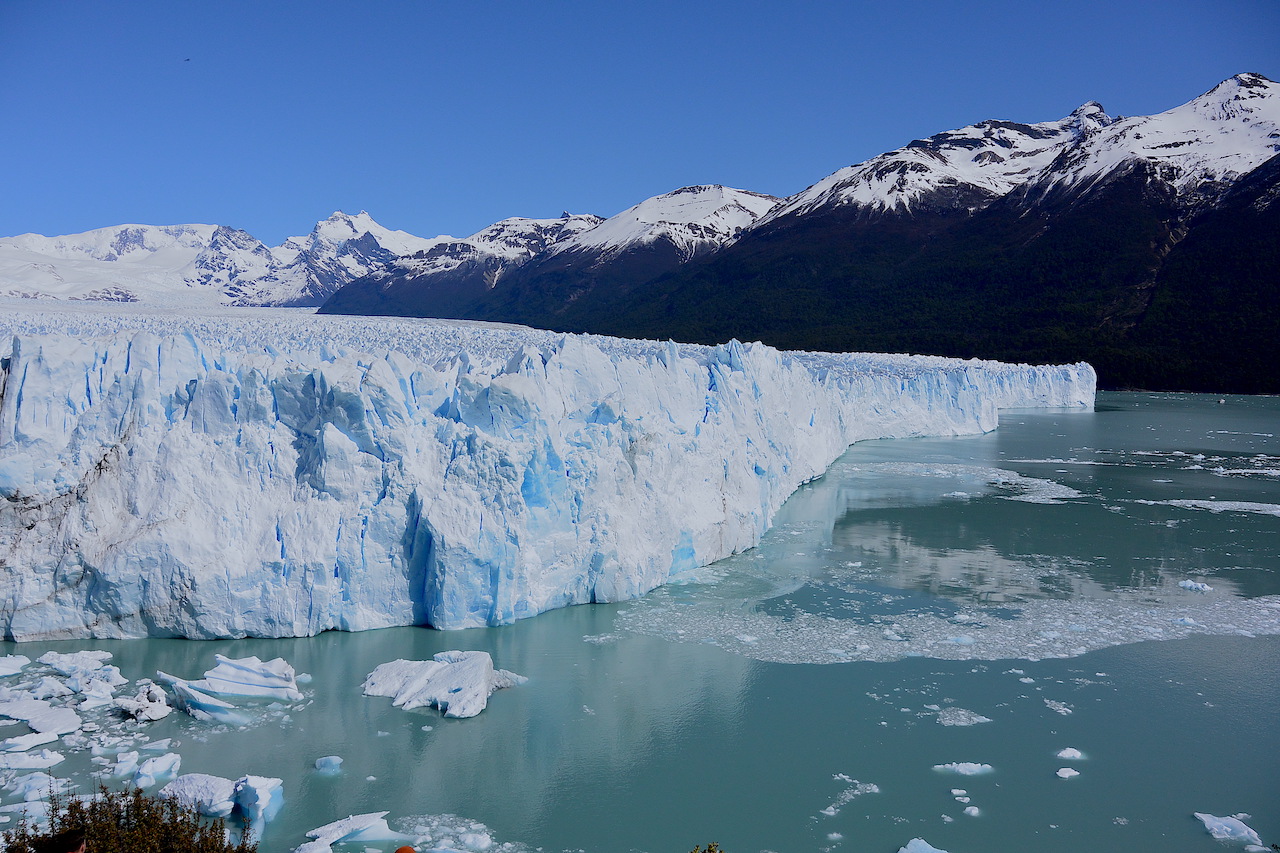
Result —
[[726, 245], [780, 201], [774, 196], [718, 184], [682, 187], [627, 207], [559, 243], [554, 251], [589, 250], [608, 257], [634, 246], [666, 240], [687, 260]]

